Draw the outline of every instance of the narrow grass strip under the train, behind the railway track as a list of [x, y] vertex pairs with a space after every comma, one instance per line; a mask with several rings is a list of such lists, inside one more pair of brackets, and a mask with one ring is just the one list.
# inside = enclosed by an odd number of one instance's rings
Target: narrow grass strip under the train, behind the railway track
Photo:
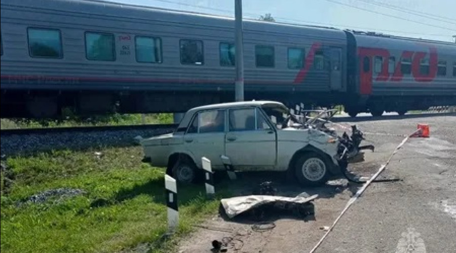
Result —
[[18, 128], [53, 128], [66, 126], [102, 126], [102, 125], [132, 125], [132, 124], [167, 124], [173, 123], [171, 113], [157, 114], [109, 114], [80, 118], [67, 116], [62, 120], [30, 120], [30, 119], [1, 119], [1, 129]]

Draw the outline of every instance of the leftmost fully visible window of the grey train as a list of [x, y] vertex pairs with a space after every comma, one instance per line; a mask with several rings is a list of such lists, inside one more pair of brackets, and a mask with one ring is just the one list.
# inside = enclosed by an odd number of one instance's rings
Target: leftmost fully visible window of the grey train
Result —
[[27, 28], [28, 54], [33, 58], [61, 59], [62, 37], [60, 30]]

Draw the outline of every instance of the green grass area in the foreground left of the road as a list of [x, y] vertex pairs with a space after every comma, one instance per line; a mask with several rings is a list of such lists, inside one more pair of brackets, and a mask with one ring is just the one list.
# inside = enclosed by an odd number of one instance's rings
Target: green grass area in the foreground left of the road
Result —
[[[153, 252], [172, 251], [175, 241], [216, 213], [219, 198], [229, 194], [218, 191], [214, 200], [206, 200], [204, 184], [178, 185], [180, 224], [175, 236], [163, 242], [164, 169], [141, 158], [140, 147], [8, 158], [14, 183], [7, 189], [2, 172], [2, 252], [119, 252], [143, 243], [154, 245]], [[33, 194], [62, 187], [86, 193], [24, 203]]]

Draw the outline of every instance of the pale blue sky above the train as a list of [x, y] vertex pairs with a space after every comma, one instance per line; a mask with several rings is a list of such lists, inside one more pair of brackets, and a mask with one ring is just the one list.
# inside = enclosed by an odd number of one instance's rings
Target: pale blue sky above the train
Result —
[[[234, 17], [235, 0], [107, 0]], [[243, 17], [454, 41], [455, 0], [243, 0]]]

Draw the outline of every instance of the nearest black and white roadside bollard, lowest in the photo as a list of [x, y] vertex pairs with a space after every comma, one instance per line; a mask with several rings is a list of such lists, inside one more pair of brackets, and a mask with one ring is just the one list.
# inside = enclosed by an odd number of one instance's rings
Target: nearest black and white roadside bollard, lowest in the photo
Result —
[[173, 233], [179, 225], [179, 210], [177, 207], [176, 180], [165, 175], [166, 205], [168, 206], [168, 232]]

